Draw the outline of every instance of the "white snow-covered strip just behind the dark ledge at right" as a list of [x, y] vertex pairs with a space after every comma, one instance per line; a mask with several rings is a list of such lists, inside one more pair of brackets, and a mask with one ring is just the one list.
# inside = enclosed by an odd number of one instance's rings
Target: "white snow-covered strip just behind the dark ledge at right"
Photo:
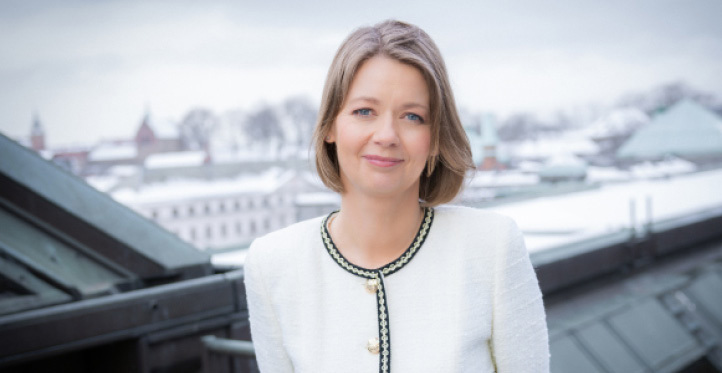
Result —
[[722, 170], [604, 185], [598, 189], [499, 205], [489, 210], [516, 220], [530, 252], [635, 226], [722, 207]]

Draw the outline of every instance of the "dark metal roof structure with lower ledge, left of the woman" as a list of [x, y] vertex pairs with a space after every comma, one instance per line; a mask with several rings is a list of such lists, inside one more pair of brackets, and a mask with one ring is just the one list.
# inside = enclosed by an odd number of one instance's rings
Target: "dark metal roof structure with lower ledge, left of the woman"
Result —
[[242, 271], [0, 135], [0, 370], [188, 372], [248, 339]]

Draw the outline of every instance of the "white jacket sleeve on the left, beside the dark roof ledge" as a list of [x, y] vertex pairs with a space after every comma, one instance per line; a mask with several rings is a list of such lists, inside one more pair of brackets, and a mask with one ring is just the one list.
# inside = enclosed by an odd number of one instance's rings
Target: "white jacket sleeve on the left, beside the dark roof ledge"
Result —
[[244, 277], [251, 339], [256, 352], [258, 368], [263, 373], [293, 372], [293, 366], [283, 346], [281, 326], [273, 308], [271, 294], [266, 287], [264, 248], [251, 244], [244, 263]]

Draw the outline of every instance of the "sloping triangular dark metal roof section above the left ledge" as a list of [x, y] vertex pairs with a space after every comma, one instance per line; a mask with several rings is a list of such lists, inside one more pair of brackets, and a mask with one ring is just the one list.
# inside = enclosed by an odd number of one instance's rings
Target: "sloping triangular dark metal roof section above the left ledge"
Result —
[[0, 315], [211, 273], [206, 253], [0, 135]]

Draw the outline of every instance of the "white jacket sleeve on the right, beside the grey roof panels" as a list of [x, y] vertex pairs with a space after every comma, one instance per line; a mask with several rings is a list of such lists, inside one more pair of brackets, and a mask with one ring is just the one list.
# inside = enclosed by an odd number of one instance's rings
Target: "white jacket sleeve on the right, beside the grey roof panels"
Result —
[[521, 232], [511, 219], [496, 247], [491, 351], [499, 373], [549, 372], [542, 294]]

